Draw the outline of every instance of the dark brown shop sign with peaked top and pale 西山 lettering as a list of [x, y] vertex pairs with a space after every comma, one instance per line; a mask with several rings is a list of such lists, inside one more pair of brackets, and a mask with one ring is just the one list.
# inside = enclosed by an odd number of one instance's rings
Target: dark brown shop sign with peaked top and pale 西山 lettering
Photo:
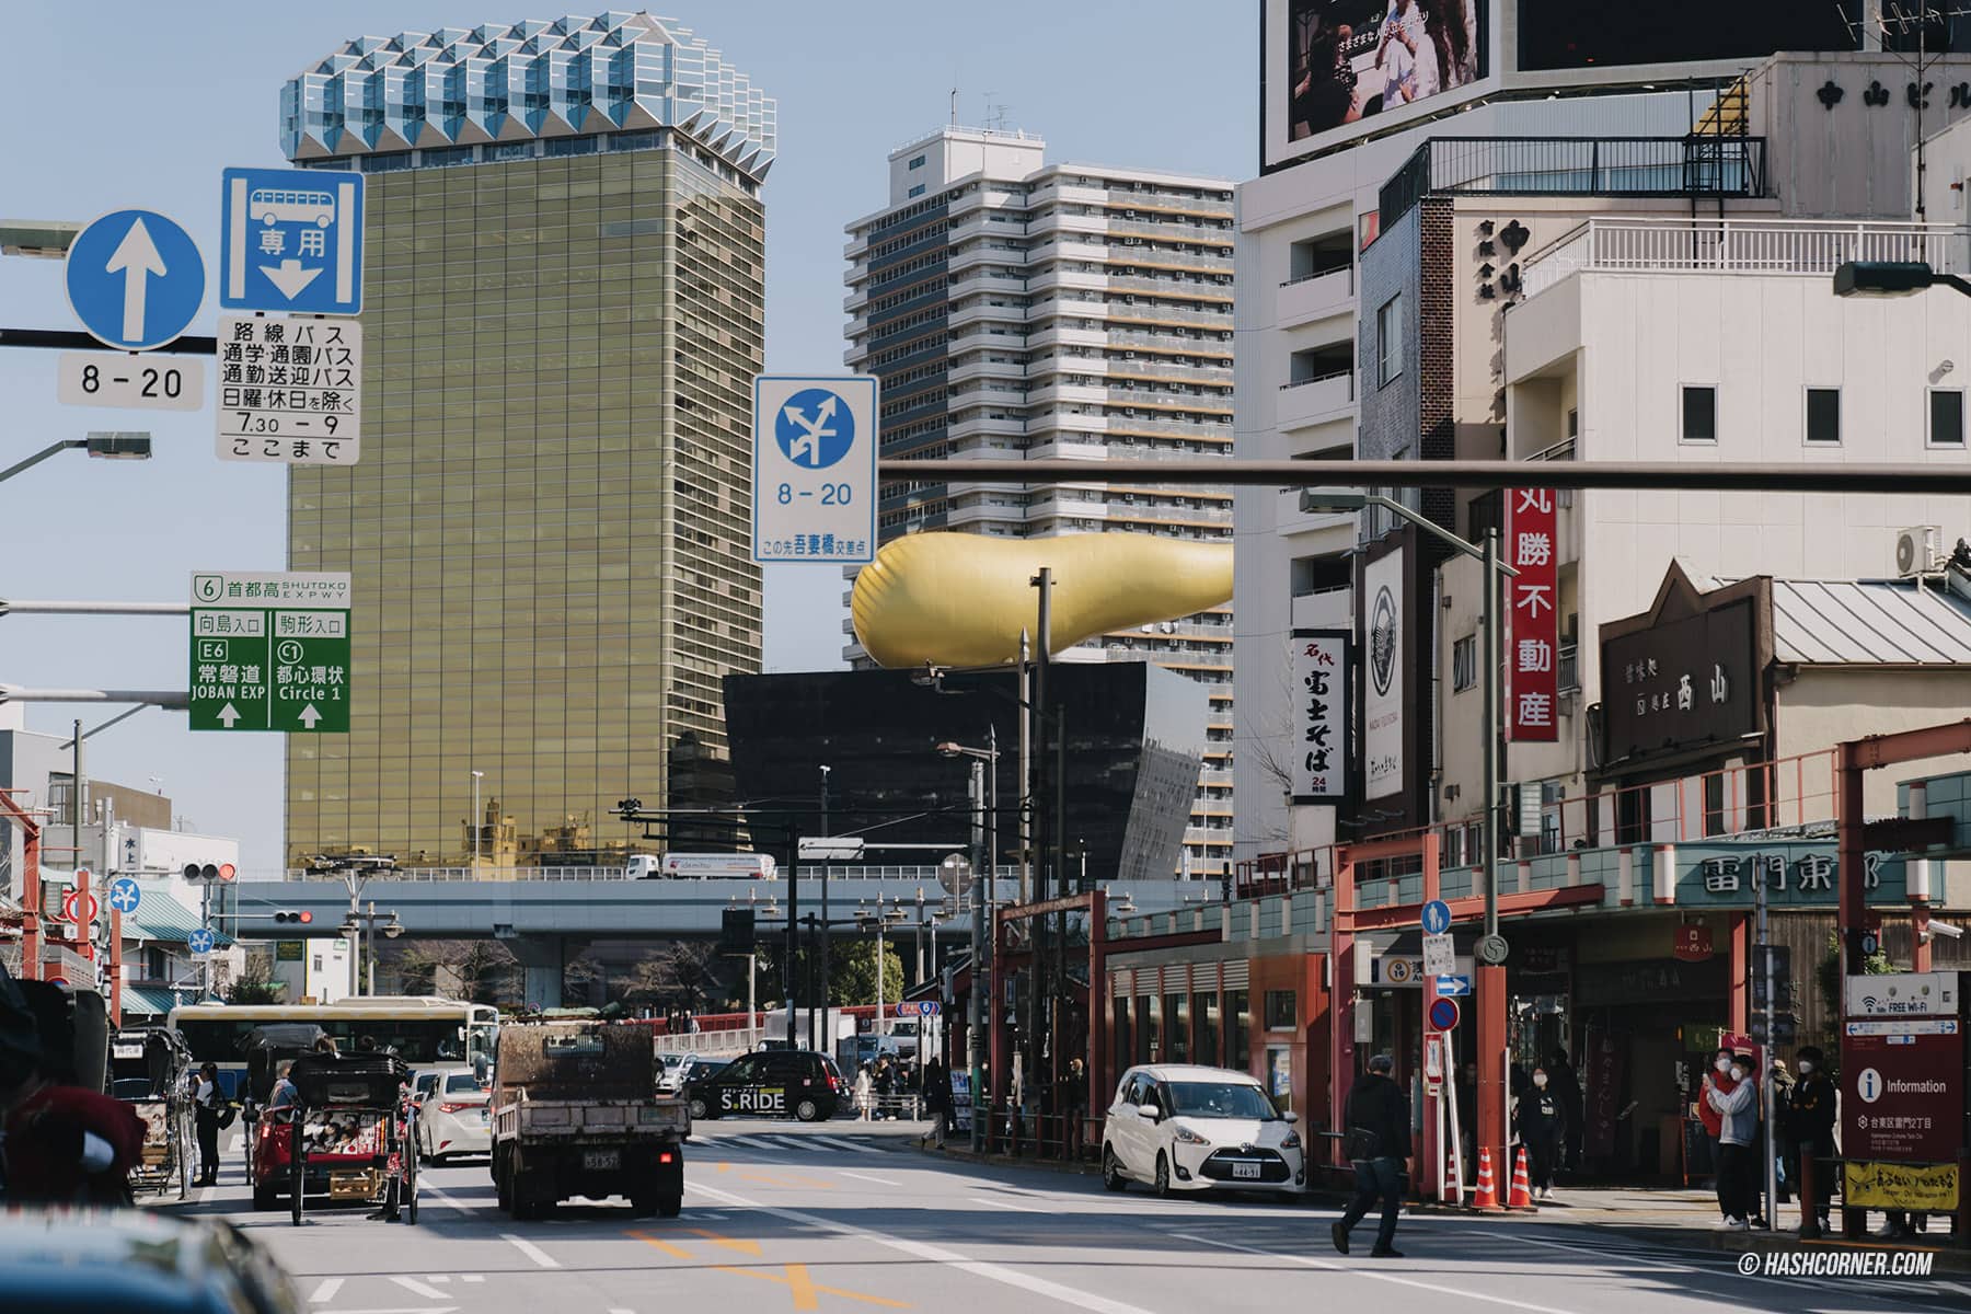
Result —
[[1606, 762], [1733, 745], [1764, 729], [1768, 581], [1697, 593], [1681, 569], [1669, 571], [1650, 613], [1600, 626]]

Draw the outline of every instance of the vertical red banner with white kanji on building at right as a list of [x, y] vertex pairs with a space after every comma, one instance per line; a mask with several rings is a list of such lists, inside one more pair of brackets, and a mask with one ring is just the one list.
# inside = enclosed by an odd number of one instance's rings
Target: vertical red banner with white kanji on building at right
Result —
[[1559, 737], [1559, 556], [1553, 489], [1506, 489], [1506, 737]]

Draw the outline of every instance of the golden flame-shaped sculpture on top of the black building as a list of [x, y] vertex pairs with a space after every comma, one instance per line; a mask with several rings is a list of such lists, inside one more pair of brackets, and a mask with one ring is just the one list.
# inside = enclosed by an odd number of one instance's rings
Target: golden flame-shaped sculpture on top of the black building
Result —
[[883, 544], [855, 575], [855, 638], [889, 668], [1013, 662], [1021, 630], [1039, 644], [1041, 591], [1031, 581], [1043, 565], [1054, 571], [1054, 652], [1232, 597], [1232, 544], [1149, 534], [909, 534]]

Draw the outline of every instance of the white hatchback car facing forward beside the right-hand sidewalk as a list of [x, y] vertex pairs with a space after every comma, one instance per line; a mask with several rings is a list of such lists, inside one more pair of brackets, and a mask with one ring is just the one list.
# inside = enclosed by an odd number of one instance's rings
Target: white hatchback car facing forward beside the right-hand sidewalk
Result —
[[1187, 1190], [1307, 1186], [1299, 1115], [1279, 1113], [1244, 1072], [1192, 1064], [1131, 1068], [1116, 1084], [1102, 1125], [1102, 1184], [1147, 1182], [1159, 1196]]

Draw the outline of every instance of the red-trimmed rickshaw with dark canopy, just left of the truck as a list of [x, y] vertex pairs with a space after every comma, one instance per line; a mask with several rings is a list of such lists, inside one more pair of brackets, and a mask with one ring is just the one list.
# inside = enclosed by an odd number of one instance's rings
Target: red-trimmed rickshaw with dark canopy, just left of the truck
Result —
[[[254, 1152], [254, 1206], [288, 1196], [296, 1225], [309, 1200], [361, 1202], [418, 1221], [416, 1111], [410, 1070], [394, 1054], [307, 1054], [288, 1080], [298, 1101], [264, 1109]], [[262, 1206], [262, 1202], [266, 1202]]]

